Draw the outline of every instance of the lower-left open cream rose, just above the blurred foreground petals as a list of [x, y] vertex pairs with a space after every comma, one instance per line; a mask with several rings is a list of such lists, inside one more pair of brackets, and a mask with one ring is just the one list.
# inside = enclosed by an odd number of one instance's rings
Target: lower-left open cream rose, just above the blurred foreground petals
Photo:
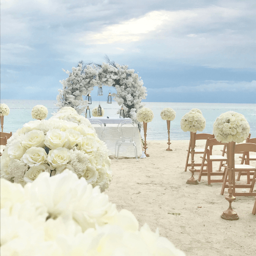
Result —
[[27, 165], [37, 166], [46, 161], [47, 154], [44, 148], [32, 146], [26, 151], [22, 158]]

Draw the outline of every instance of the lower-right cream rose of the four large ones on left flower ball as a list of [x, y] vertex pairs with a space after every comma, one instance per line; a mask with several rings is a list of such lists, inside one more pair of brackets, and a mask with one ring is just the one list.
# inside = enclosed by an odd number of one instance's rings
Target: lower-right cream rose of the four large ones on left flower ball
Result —
[[56, 150], [50, 150], [48, 161], [53, 167], [59, 167], [70, 161], [70, 152], [65, 147], [58, 147]]

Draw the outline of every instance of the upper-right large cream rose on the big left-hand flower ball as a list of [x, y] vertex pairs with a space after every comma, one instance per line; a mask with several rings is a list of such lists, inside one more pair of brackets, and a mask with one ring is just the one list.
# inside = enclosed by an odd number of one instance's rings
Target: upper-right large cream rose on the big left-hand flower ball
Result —
[[67, 135], [65, 132], [61, 132], [57, 129], [52, 129], [47, 132], [45, 137], [45, 144], [55, 150], [58, 147], [62, 147], [67, 142]]

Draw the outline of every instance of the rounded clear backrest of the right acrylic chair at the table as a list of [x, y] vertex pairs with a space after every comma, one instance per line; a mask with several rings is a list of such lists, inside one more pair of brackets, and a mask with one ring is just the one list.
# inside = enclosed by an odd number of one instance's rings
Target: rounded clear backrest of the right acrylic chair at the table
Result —
[[117, 129], [120, 134], [122, 141], [133, 141], [136, 130], [138, 129], [137, 124], [132, 120], [125, 120], [118, 124]]

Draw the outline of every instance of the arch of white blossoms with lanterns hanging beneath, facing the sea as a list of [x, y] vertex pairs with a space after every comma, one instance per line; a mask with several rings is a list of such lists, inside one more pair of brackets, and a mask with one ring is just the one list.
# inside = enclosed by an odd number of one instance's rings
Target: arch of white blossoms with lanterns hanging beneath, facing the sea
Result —
[[85, 68], [79, 63], [78, 67], [72, 68], [72, 72], [64, 71], [69, 77], [60, 81], [63, 89], [58, 90], [58, 108], [72, 106], [81, 114], [88, 104], [88, 100], [83, 100], [82, 96], [91, 93], [94, 86], [109, 86], [116, 89], [117, 93], [112, 93], [112, 96], [118, 105], [123, 106], [124, 116], [136, 121], [136, 113], [143, 107], [141, 100], [147, 94], [141, 77], [134, 69], [115, 62], [103, 62], [102, 65], [87, 65]]

